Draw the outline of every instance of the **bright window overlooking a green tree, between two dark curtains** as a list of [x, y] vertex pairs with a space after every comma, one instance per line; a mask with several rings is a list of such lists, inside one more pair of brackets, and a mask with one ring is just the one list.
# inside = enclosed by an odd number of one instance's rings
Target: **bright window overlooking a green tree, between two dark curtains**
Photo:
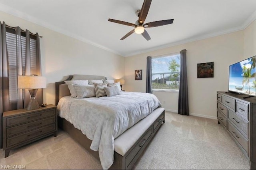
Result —
[[152, 58], [152, 90], [179, 90], [180, 54]]

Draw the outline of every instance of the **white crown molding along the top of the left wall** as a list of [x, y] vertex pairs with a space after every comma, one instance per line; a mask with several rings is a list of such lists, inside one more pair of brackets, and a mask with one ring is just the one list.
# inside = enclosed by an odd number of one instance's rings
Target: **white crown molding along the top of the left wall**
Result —
[[112, 53], [114, 53], [114, 54], [118, 54], [118, 55], [122, 56], [122, 54], [119, 53], [119, 52], [116, 52], [116, 51], [111, 50], [111, 49], [109, 49], [109, 48], [106, 48], [106, 47], [104, 47], [104, 46], [102, 46], [102, 45], [100, 45], [100, 44], [97, 44], [97, 43], [95, 43], [95, 42], [92, 42], [92, 41], [90, 41], [90, 40], [87, 40], [86, 38], [82, 38], [81, 36], [79, 36], [79, 35], [77, 35], [77, 34], [74, 34], [74, 33], [72, 33], [72, 32], [65, 31], [65, 30], [63, 30], [62, 28], [56, 27], [56, 26], [54, 26], [54, 25], [52, 25], [52, 24], [49, 24], [48, 22], [45, 22], [45, 21], [40, 20], [40, 19], [38, 19], [38, 18], [35, 18], [35, 17], [33, 17], [33, 16], [29, 15], [29, 14], [26, 14], [26, 13], [24, 13], [24, 12], [21, 12], [20, 10], [16, 10], [16, 9], [14, 9], [14, 8], [11, 8], [10, 6], [6, 6], [6, 5], [0, 3], [0, 11], [6, 12], [6, 13], [8, 13], [8, 14], [11, 14], [11, 15], [13, 15], [13, 16], [22, 18], [22, 19], [27, 20], [27, 21], [29, 21], [29, 22], [32, 22], [32, 23], [34, 23], [34, 24], [43, 26], [43, 27], [48, 28], [48, 29], [50, 29], [50, 30], [53, 30], [53, 31], [55, 31], [55, 32], [59, 32], [59, 33], [64, 34], [64, 35], [66, 35], [66, 36], [70, 36], [70, 37], [75, 38], [75, 39], [77, 39], [77, 40], [80, 40], [80, 41], [82, 41], [82, 42], [86, 42], [86, 43], [88, 43], [88, 44], [91, 44], [91, 45], [96, 46], [96, 47], [98, 47], [98, 48], [101, 48], [101, 49], [103, 49], [103, 50], [106, 50], [106, 51], [109, 51], [109, 52], [112, 52]]

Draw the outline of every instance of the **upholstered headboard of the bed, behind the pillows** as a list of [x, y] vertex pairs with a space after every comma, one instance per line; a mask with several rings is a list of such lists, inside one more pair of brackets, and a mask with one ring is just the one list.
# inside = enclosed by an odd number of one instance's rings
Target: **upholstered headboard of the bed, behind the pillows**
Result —
[[[74, 74], [72, 76], [69, 76], [66, 80], [106, 80], [106, 77]], [[66, 80], [63, 80], [61, 82], [55, 82], [55, 105], [56, 106], [60, 98], [71, 95], [68, 89], [68, 85], [64, 82]]]

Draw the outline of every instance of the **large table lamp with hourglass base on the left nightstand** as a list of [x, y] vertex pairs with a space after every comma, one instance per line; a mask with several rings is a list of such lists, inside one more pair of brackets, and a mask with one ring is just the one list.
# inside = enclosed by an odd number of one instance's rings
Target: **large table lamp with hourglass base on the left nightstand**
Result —
[[31, 96], [27, 110], [40, 108], [35, 98], [38, 88], [46, 88], [45, 77], [36, 75], [18, 76], [18, 89], [28, 89]]

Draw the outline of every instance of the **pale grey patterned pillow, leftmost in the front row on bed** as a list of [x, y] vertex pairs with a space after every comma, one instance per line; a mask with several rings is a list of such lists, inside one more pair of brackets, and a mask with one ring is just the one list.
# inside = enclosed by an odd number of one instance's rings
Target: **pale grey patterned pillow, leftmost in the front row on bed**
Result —
[[92, 85], [79, 86], [74, 84], [73, 86], [76, 90], [77, 98], [88, 98], [96, 96], [95, 88]]

